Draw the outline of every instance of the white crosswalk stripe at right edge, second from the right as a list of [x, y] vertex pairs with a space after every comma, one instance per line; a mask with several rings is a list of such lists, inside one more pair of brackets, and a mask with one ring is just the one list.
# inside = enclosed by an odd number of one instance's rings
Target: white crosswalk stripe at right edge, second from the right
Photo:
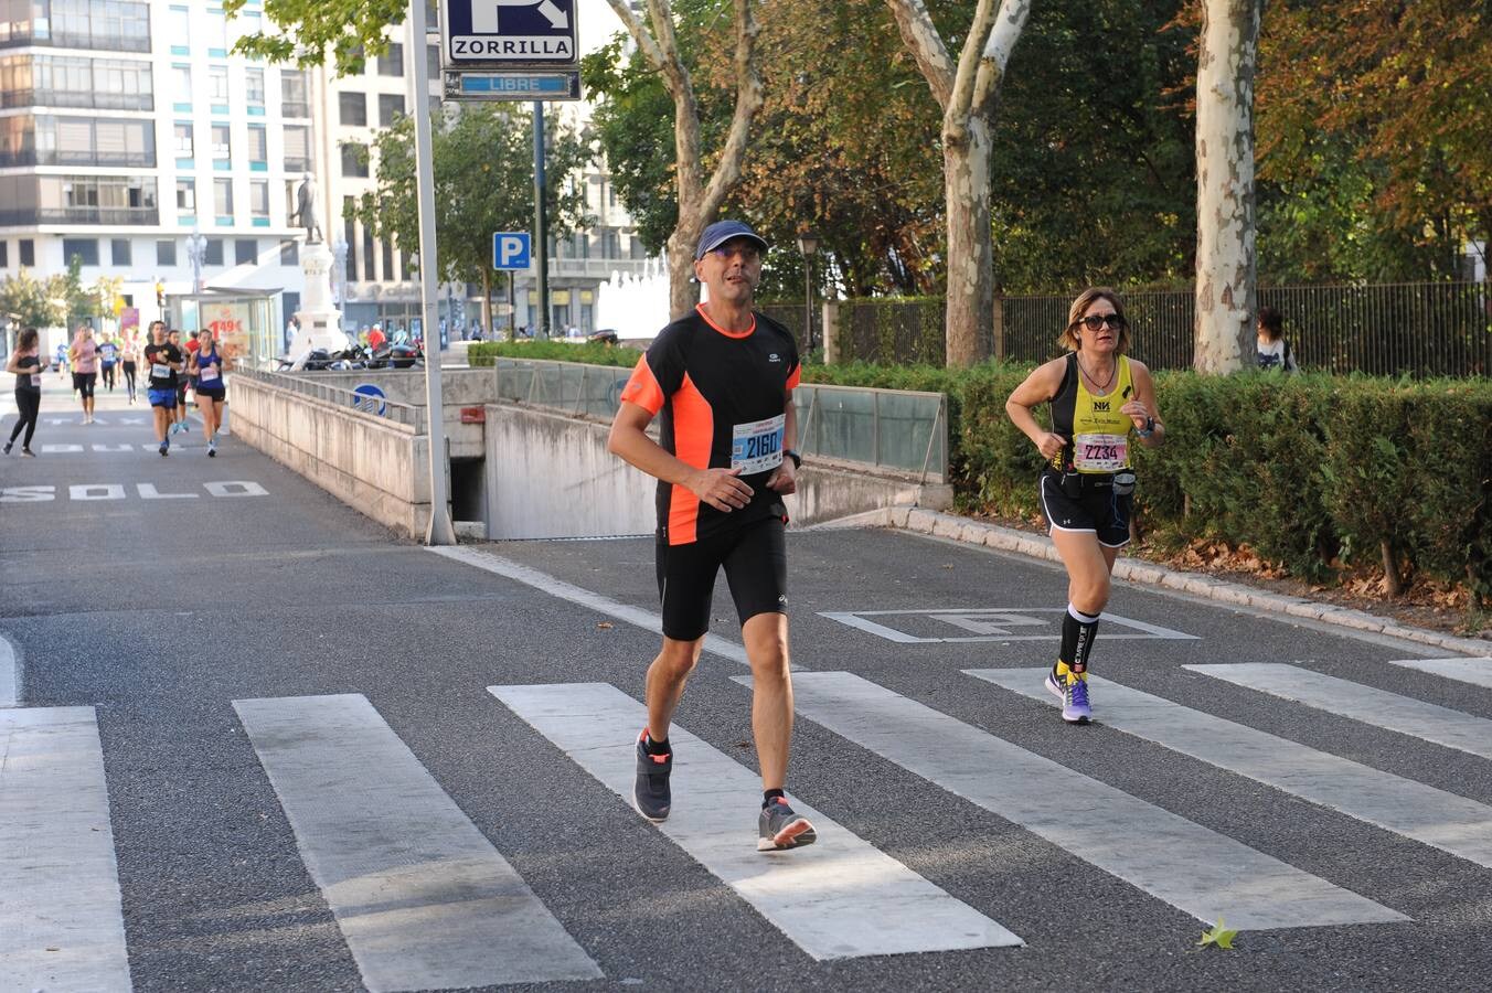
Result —
[[1303, 669], [1298, 665], [1240, 662], [1183, 668], [1306, 704], [1316, 710], [1397, 731], [1422, 741], [1492, 759], [1492, 720], [1486, 717], [1474, 717], [1449, 707], [1426, 704], [1335, 675]]

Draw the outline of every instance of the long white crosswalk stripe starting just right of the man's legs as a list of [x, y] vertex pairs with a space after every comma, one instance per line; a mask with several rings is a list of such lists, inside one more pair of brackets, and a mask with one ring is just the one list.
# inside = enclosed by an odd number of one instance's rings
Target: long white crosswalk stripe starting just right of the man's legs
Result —
[[803, 672], [792, 687], [809, 720], [1200, 920], [1240, 929], [1404, 920], [850, 672]]

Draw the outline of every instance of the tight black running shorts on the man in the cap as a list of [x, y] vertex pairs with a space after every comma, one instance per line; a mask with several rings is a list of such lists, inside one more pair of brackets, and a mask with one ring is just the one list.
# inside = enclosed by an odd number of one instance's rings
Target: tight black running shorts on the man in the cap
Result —
[[662, 634], [674, 641], [710, 629], [715, 577], [725, 567], [742, 625], [765, 613], [788, 613], [788, 540], [780, 517], [753, 520], [689, 544], [658, 543]]

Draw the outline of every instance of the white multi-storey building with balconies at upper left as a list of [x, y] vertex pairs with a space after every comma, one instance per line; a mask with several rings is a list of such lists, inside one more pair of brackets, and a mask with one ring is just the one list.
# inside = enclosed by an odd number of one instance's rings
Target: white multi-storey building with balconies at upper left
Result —
[[200, 233], [204, 288], [294, 292], [313, 124], [304, 73], [230, 54], [261, 18], [260, 0], [233, 22], [200, 0], [0, 0], [0, 274], [78, 256], [146, 322], [158, 283], [192, 291]]

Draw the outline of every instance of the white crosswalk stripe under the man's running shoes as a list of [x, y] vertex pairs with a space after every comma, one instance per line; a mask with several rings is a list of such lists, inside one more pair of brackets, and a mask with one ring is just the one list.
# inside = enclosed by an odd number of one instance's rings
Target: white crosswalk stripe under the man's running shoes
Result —
[[[601, 784], [633, 795], [636, 737], [646, 708], [607, 683], [491, 686], [515, 714]], [[949, 896], [794, 796], [821, 842], [755, 850], [761, 780], [674, 725], [679, 802], [658, 828], [818, 960], [1018, 945], [1001, 924]]]

